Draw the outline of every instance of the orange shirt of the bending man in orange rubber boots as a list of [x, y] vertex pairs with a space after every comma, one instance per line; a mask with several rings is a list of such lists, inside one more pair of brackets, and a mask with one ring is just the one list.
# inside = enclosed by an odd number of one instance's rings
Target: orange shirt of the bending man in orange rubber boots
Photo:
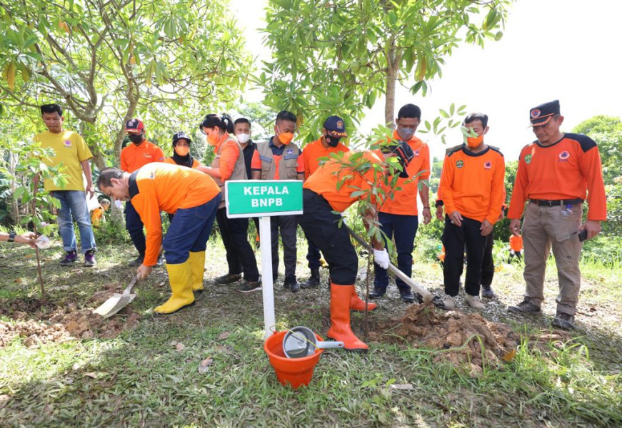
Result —
[[[356, 153], [361, 152], [351, 151], [346, 153], [343, 155], [343, 161], [348, 161]], [[363, 152], [363, 158], [371, 163], [381, 163], [383, 161], [383, 155], [380, 151]], [[364, 195], [352, 197], [351, 194], [358, 190], [369, 190], [376, 176], [375, 174], [378, 173], [381, 172], [373, 168], [370, 168], [365, 175], [353, 173], [350, 168], [344, 168], [338, 161], [331, 160], [321, 165], [315, 173], [311, 174], [309, 180], [304, 182], [303, 188], [322, 195], [333, 210], [341, 212], [361, 198], [364, 198]], [[341, 188], [337, 189], [337, 183], [346, 175], [351, 175], [351, 177], [347, 178], [341, 185]]]

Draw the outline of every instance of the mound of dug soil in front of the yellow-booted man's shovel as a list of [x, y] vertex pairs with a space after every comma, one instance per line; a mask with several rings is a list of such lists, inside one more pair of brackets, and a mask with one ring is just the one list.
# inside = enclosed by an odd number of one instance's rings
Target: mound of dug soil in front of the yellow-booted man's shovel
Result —
[[[73, 308], [69, 308], [71, 309]], [[66, 309], [59, 308], [51, 314], [30, 315], [31, 317], [39, 315], [39, 320], [22, 318], [11, 324], [0, 321], [0, 347], [6, 346], [16, 336], [24, 337], [24, 345], [27, 347], [36, 347], [47, 342], [116, 337], [122, 331], [136, 327], [140, 319], [140, 315], [131, 312], [131, 308], [126, 307], [124, 310], [128, 316], [116, 316], [108, 320], [94, 314], [90, 309], [66, 312]]]

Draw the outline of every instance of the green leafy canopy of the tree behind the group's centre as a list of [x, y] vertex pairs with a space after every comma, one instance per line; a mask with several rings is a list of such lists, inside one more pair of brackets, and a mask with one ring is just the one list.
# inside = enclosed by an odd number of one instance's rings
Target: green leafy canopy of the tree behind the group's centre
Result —
[[383, 94], [388, 123], [397, 81], [425, 95], [427, 82], [441, 76], [444, 58], [461, 41], [483, 46], [485, 39], [500, 38], [510, 3], [271, 0], [265, 32], [273, 58], [255, 81], [267, 106], [304, 119], [299, 125], [306, 143], [331, 114], [356, 128], [364, 109]]

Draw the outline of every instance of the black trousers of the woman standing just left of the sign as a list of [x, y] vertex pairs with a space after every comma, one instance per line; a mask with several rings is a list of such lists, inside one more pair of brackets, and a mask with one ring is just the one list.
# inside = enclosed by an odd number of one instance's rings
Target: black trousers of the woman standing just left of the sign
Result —
[[216, 222], [227, 254], [229, 273], [244, 272], [247, 281], [259, 281], [259, 269], [253, 248], [249, 244], [249, 219], [228, 218], [226, 208], [216, 213]]

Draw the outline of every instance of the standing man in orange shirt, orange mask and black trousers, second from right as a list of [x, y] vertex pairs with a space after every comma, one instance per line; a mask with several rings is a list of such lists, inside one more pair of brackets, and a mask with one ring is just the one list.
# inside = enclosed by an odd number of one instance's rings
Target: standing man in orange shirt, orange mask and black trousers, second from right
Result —
[[[501, 152], [483, 142], [488, 116], [471, 113], [463, 126], [471, 136], [466, 144], [446, 154], [443, 161], [439, 194], [445, 206], [445, 228], [441, 240], [445, 245], [445, 297], [441, 307], [453, 310], [458, 295], [466, 245], [465, 300], [471, 307], [486, 307], [479, 298], [481, 267], [486, 237], [501, 214], [505, 187], [505, 161]], [[475, 134], [475, 136], [472, 136]]]

